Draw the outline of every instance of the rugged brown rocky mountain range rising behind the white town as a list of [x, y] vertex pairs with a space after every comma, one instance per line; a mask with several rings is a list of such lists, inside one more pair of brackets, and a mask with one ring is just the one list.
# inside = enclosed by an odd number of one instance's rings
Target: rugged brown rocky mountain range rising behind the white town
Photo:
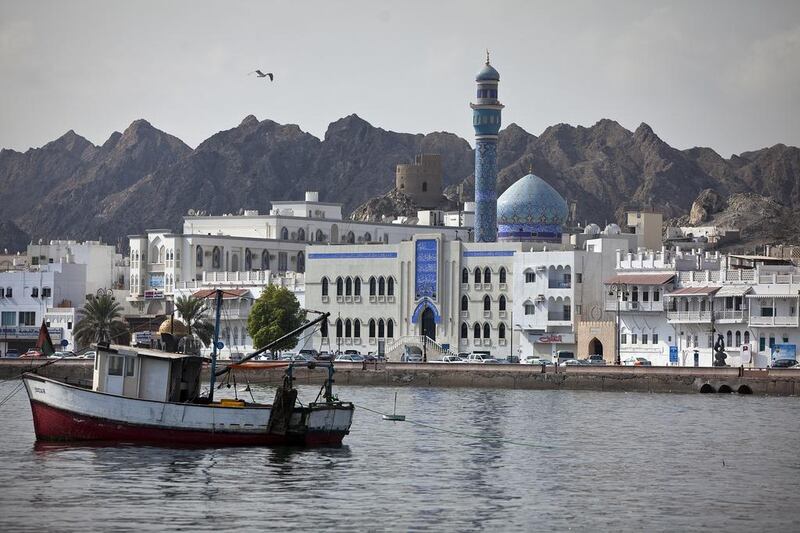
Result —
[[[631, 132], [607, 119], [591, 127], [558, 124], [538, 137], [511, 124], [499, 143], [498, 192], [532, 168], [577, 203], [579, 221], [618, 220], [631, 207], [682, 216], [704, 189], [800, 207], [795, 147], [725, 159], [708, 148], [672, 148], [646, 124]], [[24, 153], [0, 150], [0, 222], [32, 239], [100, 237], [125, 245], [126, 235], [148, 228], [179, 229], [189, 209], [266, 211], [269, 202], [306, 190], [348, 212], [390, 191], [396, 164], [422, 152], [442, 155], [451, 199], [471, 198], [474, 153], [466, 140], [387, 131], [356, 115], [330, 124], [323, 139], [248, 116], [195, 149], [144, 120], [101, 146], [69, 131]]]

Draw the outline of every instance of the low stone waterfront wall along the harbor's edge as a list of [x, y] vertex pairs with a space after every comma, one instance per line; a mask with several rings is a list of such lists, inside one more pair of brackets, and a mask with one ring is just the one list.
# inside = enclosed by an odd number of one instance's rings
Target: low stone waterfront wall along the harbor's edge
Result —
[[[41, 360], [0, 360], [0, 379], [40, 364]], [[240, 385], [277, 384], [283, 369], [274, 363], [247, 363], [237, 367], [235, 376]], [[92, 362], [59, 361], [40, 372], [87, 383]], [[321, 384], [325, 374], [320, 369], [294, 371], [297, 384]], [[336, 363], [335, 379], [337, 385], [359, 386], [800, 395], [800, 370], [790, 369], [342, 362]]]

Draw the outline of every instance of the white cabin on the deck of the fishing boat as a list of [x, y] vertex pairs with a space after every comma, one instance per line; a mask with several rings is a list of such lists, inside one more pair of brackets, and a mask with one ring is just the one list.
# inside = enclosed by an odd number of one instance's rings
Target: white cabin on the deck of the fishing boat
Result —
[[200, 372], [207, 360], [197, 355], [98, 345], [92, 390], [159, 402], [189, 401], [200, 396]]

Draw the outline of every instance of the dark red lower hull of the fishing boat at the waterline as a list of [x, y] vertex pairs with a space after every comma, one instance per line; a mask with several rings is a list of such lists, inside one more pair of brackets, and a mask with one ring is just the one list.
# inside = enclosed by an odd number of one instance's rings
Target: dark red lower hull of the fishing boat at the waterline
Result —
[[105, 441], [192, 446], [341, 446], [346, 431], [303, 435], [198, 431], [131, 425], [86, 416], [31, 400], [36, 438], [43, 441]]

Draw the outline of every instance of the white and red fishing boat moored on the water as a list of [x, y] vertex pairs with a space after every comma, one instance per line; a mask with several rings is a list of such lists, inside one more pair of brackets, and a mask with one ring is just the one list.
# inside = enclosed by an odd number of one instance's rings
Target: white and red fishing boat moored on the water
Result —
[[[327, 313], [241, 362], [323, 319]], [[91, 388], [35, 372], [24, 374], [36, 438], [199, 446], [341, 446], [350, 431], [354, 406], [334, 396], [332, 363], [287, 362], [272, 404], [214, 400], [216, 378], [235, 368], [216, 370], [217, 336], [210, 359], [98, 344]], [[200, 378], [206, 363], [210, 363], [210, 384], [207, 395], [202, 395]], [[327, 370], [316, 400], [305, 405], [297, 402], [293, 386], [293, 371], [299, 366]]]

